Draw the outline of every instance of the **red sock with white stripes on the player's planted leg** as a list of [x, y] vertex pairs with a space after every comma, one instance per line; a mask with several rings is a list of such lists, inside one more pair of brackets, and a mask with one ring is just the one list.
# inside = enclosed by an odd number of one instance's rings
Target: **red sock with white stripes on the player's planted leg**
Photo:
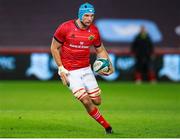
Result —
[[93, 117], [98, 123], [100, 123], [104, 128], [108, 128], [110, 125], [108, 122], [102, 117], [99, 110], [95, 107], [95, 109], [89, 112], [89, 115]]

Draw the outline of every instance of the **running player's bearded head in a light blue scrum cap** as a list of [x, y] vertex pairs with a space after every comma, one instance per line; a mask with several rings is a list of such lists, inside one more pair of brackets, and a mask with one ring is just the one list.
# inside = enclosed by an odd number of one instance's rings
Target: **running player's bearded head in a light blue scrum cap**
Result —
[[78, 12], [78, 18], [80, 21], [86, 25], [89, 24], [89, 22], [92, 23], [94, 19], [95, 9], [94, 6], [89, 3], [84, 3], [80, 5], [79, 12]]

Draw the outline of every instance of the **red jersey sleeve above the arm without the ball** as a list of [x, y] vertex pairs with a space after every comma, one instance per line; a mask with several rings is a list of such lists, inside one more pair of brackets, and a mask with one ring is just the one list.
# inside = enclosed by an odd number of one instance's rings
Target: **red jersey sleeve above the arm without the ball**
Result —
[[59, 25], [54, 33], [54, 39], [59, 43], [65, 42], [65, 35], [66, 35], [66, 27], [64, 24]]

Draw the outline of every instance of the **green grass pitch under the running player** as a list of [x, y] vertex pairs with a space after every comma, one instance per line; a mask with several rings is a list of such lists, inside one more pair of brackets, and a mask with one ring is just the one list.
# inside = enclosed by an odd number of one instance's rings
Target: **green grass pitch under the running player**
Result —
[[103, 116], [92, 119], [59, 81], [0, 81], [0, 137], [180, 138], [180, 84], [99, 82]]

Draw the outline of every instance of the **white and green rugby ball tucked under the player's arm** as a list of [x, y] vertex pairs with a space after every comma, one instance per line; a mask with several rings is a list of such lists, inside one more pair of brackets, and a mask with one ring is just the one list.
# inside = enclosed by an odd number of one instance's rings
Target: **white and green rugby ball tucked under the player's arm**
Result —
[[106, 58], [98, 58], [95, 60], [93, 64], [93, 71], [94, 72], [108, 72], [109, 71], [109, 60]]

